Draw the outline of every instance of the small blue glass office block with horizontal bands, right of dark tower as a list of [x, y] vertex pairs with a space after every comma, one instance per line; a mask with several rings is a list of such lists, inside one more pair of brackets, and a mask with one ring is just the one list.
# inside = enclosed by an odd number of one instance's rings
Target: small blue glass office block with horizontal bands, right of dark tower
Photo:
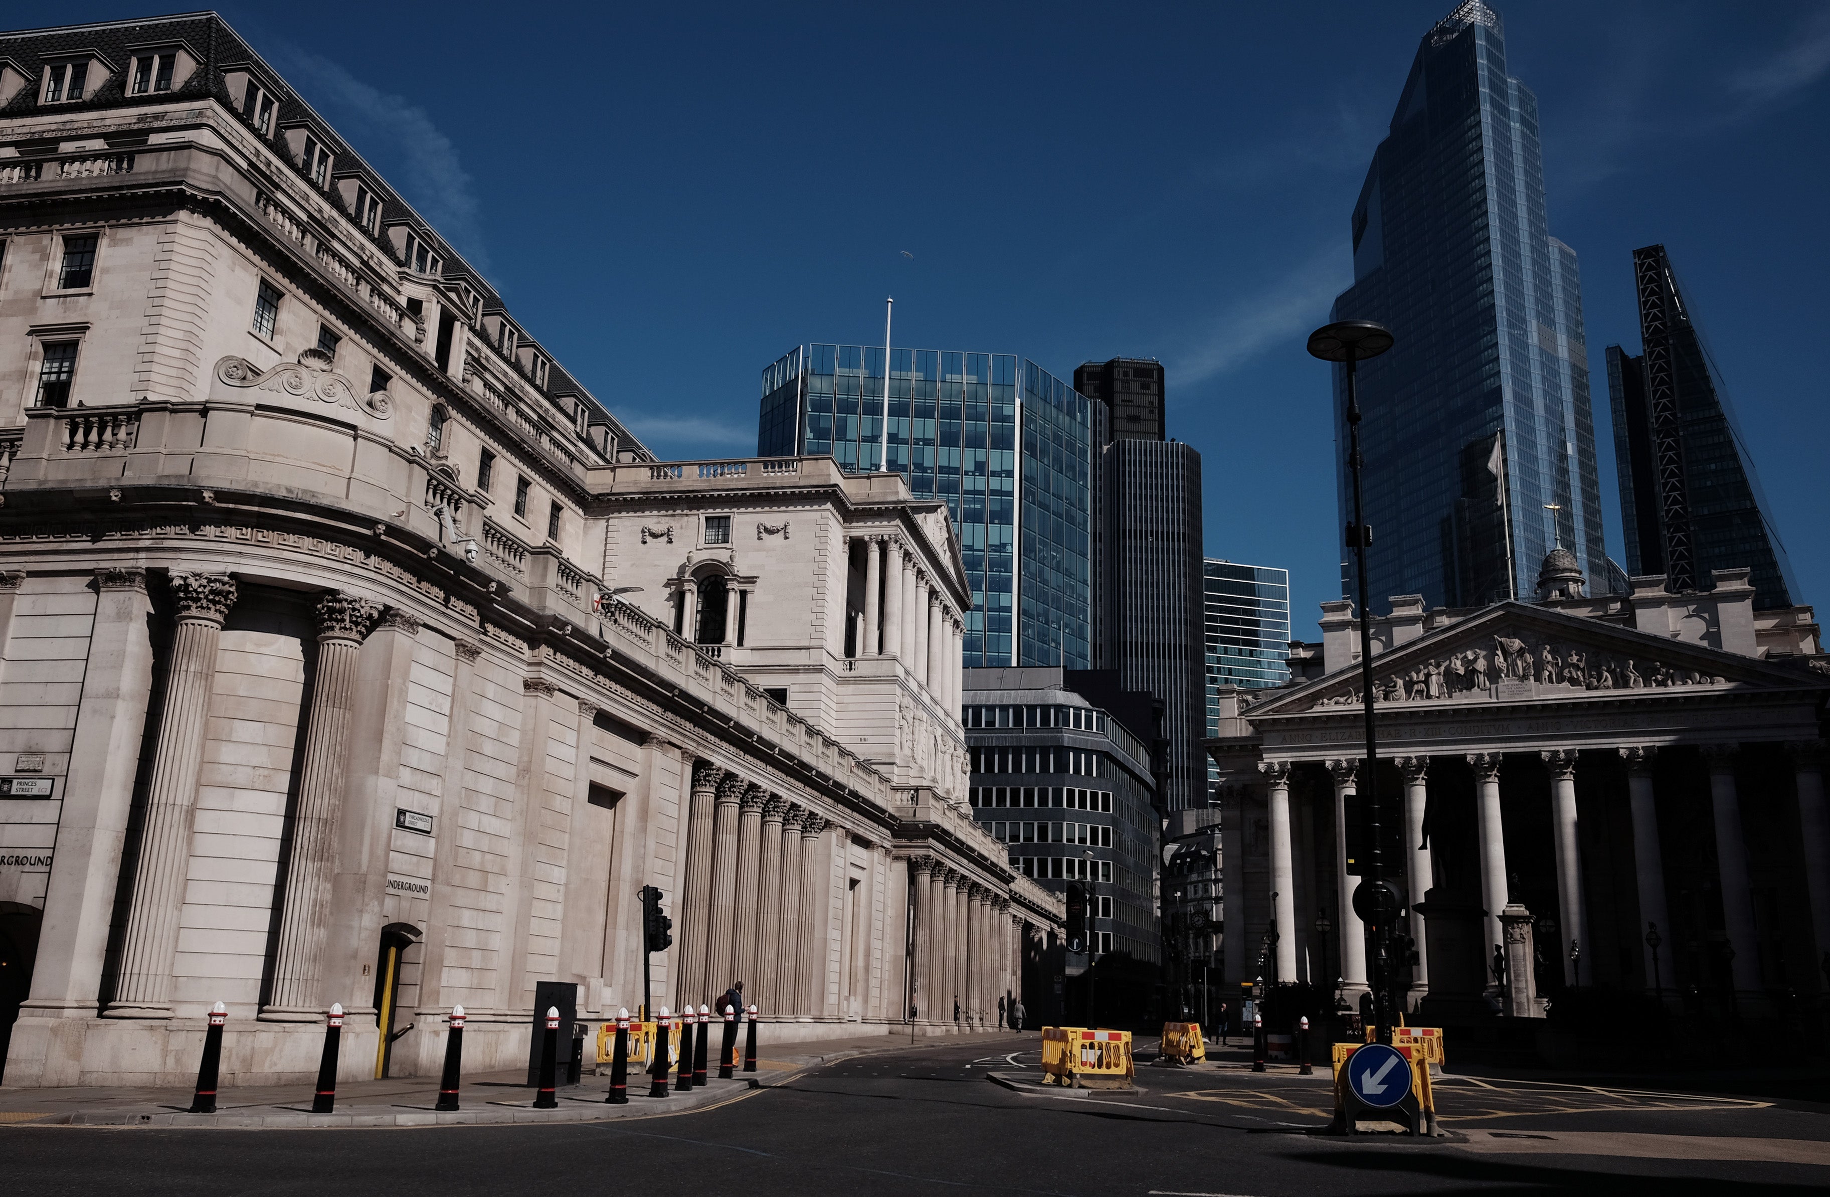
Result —
[[[1202, 562], [1208, 646], [1208, 736], [1221, 734], [1221, 686], [1261, 690], [1290, 681], [1290, 571]], [[1208, 761], [1208, 782], [1219, 767]]]

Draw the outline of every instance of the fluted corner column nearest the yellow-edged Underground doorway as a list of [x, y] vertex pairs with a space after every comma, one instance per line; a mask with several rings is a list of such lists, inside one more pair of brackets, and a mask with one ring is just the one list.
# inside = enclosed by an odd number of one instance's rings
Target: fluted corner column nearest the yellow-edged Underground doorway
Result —
[[[392, 611], [410, 637], [419, 620]], [[293, 849], [285, 862], [280, 937], [273, 955], [273, 999], [262, 1018], [318, 1021], [324, 1016], [324, 937], [329, 926], [331, 873], [337, 868], [337, 818], [348, 787], [350, 705], [362, 641], [381, 617], [366, 598], [331, 591], [318, 598], [318, 663], [311, 674], [311, 714], [298, 772]], [[452, 745], [459, 747], [459, 745]], [[456, 827], [441, 827], [443, 835]]]

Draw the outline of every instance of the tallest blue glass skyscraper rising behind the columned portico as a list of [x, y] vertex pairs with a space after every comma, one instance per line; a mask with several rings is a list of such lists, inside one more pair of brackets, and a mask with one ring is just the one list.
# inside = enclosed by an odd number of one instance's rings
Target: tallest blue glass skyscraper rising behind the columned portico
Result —
[[[1372, 602], [1532, 595], [1559, 544], [1605, 578], [1576, 254], [1546, 227], [1537, 99], [1506, 73], [1499, 15], [1480, 0], [1424, 35], [1352, 245], [1334, 318], [1396, 337], [1360, 366]], [[1345, 525], [1341, 366], [1334, 403]]]

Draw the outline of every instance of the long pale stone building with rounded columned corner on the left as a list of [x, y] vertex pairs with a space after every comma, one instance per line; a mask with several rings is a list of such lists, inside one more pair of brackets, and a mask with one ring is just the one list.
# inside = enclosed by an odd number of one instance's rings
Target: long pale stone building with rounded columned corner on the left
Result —
[[0, 35], [4, 1084], [179, 1084], [218, 999], [227, 1084], [331, 1001], [350, 1076], [458, 1003], [520, 1063], [650, 884], [657, 1007], [985, 1025], [1061, 910], [966, 602], [900, 478], [653, 461], [220, 18]]

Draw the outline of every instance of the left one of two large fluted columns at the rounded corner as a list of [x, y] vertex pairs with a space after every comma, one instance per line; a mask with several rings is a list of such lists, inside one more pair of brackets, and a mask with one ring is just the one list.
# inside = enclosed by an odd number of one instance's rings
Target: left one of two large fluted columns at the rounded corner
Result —
[[178, 630], [121, 943], [121, 983], [108, 1008], [112, 1018], [167, 1018], [172, 1012], [172, 961], [190, 875], [190, 825], [216, 683], [216, 642], [236, 600], [236, 584], [227, 573], [174, 573], [170, 588]]

